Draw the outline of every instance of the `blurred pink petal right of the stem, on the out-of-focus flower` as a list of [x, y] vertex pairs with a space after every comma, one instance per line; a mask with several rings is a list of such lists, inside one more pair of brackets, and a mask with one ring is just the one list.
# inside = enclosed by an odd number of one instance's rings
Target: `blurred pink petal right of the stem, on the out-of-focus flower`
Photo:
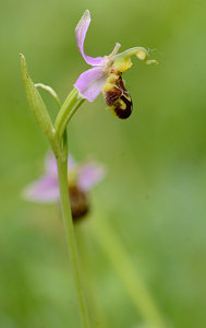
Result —
[[80, 168], [77, 185], [83, 191], [86, 191], [98, 184], [105, 176], [106, 169], [104, 166], [97, 163], [87, 163]]

